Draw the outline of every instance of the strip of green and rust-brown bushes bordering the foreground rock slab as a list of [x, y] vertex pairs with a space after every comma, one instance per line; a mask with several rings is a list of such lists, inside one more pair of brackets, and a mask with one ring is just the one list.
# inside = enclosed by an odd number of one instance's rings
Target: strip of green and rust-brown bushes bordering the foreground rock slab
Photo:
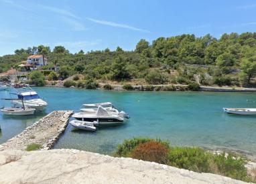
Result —
[[251, 181], [245, 167], [247, 160], [241, 156], [231, 153], [218, 155], [198, 147], [170, 147], [168, 142], [159, 139], [126, 139], [118, 145], [115, 156], [155, 161], [191, 171]]

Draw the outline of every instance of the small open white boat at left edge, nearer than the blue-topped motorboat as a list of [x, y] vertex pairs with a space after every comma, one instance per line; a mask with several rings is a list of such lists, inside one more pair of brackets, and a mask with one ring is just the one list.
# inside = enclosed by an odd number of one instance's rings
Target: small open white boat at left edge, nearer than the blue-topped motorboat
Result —
[[34, 115], [36, 109], [31, 108], [18, 108], [18, 107], [6, 107], [0, 109], [3, 115]]

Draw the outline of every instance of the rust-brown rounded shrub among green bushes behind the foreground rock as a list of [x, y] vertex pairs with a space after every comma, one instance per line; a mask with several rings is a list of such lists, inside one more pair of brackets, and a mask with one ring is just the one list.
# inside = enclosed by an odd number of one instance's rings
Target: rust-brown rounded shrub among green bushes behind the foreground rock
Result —
[[168, 149], [166, 145], [157, 141], [147, 141], [140, 143], [131, 151], [133, 159], [143, 161], [153, 161], [156, 163], [167, 163]]

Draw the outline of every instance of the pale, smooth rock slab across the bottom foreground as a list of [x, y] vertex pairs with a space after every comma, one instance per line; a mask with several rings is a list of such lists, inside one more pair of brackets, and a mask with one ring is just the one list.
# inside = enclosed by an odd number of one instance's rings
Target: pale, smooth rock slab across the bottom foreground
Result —
[[74, 149], [0, 152], [0, 183], [245, 183]]

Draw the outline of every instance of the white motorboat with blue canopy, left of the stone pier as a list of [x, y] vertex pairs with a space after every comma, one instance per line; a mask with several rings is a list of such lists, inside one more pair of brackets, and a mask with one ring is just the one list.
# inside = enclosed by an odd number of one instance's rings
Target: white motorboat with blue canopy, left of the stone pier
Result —
[[[48, 104], [46, 101], [40, 99], [40, 96], [36, 91], [29, 87], [29, 91], [17, 91], [17, 93], [11, 93], [13, 95], [17, 95], [18, 99], [23, 99], [24, 105], [26, 107], [30, 107], [32, 109], [36, 109], [36, 111], [42, 111], [44, 107]], [[20, 100], [11, 101], [14, 105], [21, 106]]]

